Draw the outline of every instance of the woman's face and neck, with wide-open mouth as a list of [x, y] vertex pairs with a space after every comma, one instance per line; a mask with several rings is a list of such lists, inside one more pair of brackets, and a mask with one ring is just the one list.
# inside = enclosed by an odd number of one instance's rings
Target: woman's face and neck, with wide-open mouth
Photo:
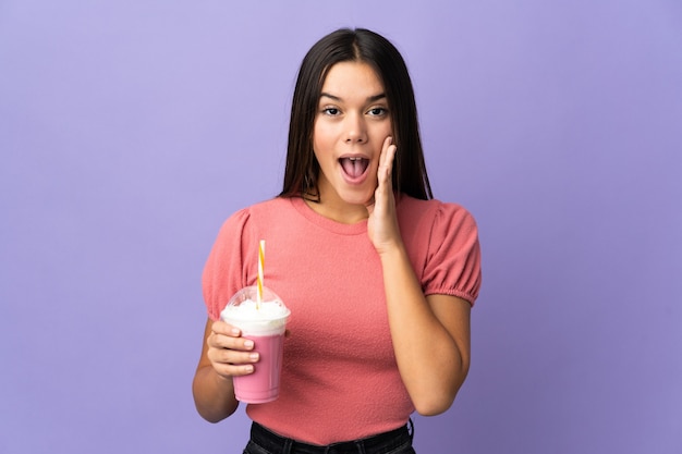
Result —
[[391, 131], [383, 84], [372, 66], [361, 62], [331, 66], [313, 128], [320, 167], [319, 211], [329, 216], [329, 210], [337, 214], [350, 210], [366, 217], [364, 206], [374, 197], [379, 155]]

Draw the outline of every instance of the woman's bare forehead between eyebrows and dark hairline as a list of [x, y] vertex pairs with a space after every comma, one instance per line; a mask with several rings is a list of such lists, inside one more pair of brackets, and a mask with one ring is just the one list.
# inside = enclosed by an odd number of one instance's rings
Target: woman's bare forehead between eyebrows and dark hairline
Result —
[[340, 62], [327, 72], [322, 93], [376, 96], [383, 93], [383, 84], [374, 68], [363, 62]]

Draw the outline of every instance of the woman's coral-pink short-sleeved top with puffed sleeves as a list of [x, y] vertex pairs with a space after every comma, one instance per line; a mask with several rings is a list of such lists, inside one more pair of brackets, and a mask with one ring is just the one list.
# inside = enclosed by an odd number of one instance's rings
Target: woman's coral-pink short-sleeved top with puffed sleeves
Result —
[[[402, 196], [398, 221], [426, 295], [472, 305], [480, 286], [476, 223], [462, 207]], [[291, 309], [280, 396], [248, 416], [314, 444], [354, 440], [404, 425], [414, 406], [402, 383], [388, 327], [381, 265], [367, 222], [341, 224], [301, 198], [240, 210], [222, 225], [204, 270], [204, 297], [217, 320], [232, 294], [254, 285], [258, 241], [265, 285]]]

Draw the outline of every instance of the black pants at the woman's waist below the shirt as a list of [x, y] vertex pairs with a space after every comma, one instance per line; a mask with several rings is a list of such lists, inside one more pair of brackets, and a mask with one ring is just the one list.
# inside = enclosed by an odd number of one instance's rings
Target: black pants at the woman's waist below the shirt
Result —
[[409, 426], [362, 440], [318, 446], [280, 437], [254, 422], [244, 454], [415, 454], [412, 420]]

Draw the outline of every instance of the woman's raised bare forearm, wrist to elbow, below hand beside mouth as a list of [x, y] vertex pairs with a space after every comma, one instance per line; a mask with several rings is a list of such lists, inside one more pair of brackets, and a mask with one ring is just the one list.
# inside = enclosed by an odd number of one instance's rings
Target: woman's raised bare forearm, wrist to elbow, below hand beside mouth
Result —
[[424, 296], [402, 244], [383, 251], [381, 265], [401, 378], [418, 413], [442, 413], [450, 407], [466, 378], [468, 345], [458, 343], [439, 320]]

